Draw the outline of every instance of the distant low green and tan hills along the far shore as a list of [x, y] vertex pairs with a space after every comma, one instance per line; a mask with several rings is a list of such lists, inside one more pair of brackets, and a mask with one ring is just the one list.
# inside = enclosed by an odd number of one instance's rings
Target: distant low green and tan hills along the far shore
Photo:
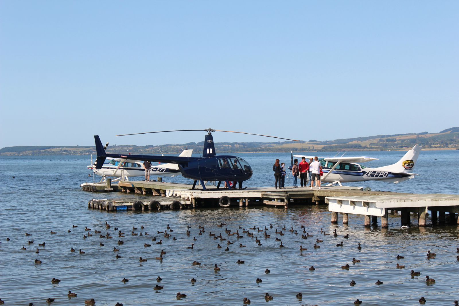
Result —
[[[189, 142], [183, 145], [114, 145], [107, 152], [113, 154], [131, 153], [158, 155], [178, 154], [183, 149], [193, 149], [202, 153], [204, 142]], [[215, 143], [218, 153], [236, 152], [317, 152], [317, 151], [365, 151], [365, 150], [406, 150], [413, 145], [421, 145], [430, 150], [459, 149], [459, 127], [447, 128], [440, 133], [411, 133], [376, 135], [335, 140], [282, 141], [282, 142], [219, 142]], [[0, 149], [1, 156], [35, 155], [90, 155], [95, 154], [94, 146], [16, 146]]]

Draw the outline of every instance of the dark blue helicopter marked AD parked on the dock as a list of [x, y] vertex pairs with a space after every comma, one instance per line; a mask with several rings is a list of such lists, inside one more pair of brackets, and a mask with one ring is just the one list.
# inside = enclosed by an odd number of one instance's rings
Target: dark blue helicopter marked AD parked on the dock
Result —
[[[216, 155], [215, 146], [213, 144], [213, 132], [228, 132], [228, 133], [239, 133], [249, 134], [257, 136], [272, 137], [278, 139], [298, 141], [295, 139], [286, 139], [275, 136], [251, 134], [245, 132], [233, 132], [233, 131], [220, 131], [212, 128], [203, 130], [174, 130], [174, 131], [159, 131], [159, 132], [146, 132], [146, 133], [135, 133], [135, 134], [123, 134], [117, 136], [128, 136], [137, 134], [151, 134], [151, 133], [167, 133], [167, 132], [185, 132], [185, 131], [204, 131], [207, 132], [204, 138], [204, 150], [202, 157], [183, 157], [183, 156], [155, 156], [155, 155], [122, 155], [122, 154], [107, 154], [104, 146], [102, 145], [101, 139], [98, 135], [94, 136], [95, 148], [97, 151], [96, 169], [101, 169], [106, 157], [112, 158], [129, 158], [132, 160], [139, 161], [154, 161], [173, 163], [179, 166], [179, 170], [182, 176], [194, 180], [193, 188], [195, 189], [197, 182], [201, 183], [202, 189], [207, 190], [204, 181], [218, 181], [217, 189], [220, 187], [221, 182], [226, 182], [228, 186], [230, 181], [239, 182], [239, 189], [242, 189], [242, 182], [252, 177], [252, 167], [249, 163], [238, 156], [233, 155]], [[235, 184], [232, 186], [235, 189]]]

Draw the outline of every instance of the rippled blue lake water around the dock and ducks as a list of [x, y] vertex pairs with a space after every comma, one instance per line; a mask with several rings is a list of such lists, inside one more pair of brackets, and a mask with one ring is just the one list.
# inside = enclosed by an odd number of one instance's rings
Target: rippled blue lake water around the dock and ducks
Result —
[[[347, 155], [365, 155], [380, 158], [367, 163], [377, 167], [398, 161], [404, 152], [354, 152]], [[318, 154], [320, 155], [320, 154]], [[333, 154], [334, 155], [334, 154]], [[254, 176], [245, 186], [274, 185], [272, 164], [280, 158], [290, 163], [290, 154], [238, 154], [254, 169]], [[324, 156], [324, 154], [322, 154]], [[413, 193], [459, 194], [458, 166], [459, 151], [421, 151], [414, 172], [420, 174], [401, 184], [379, 182], [353, 183], [353, 186], [368, 186], [371, 189]], [[49, 297], [56, 299], [51, 305], [83, 305], [84, 300], [94, 298], [96, 305], [242, 305], [244, 297], [251, 305], [353, 305], [356, 299], [362, 305], [419, 305], [424, 296], [425, 305], [453, 305], [459, 299], [459, 280], [456, 248], [459, 246], [457, 226], [418, 228], [416, 218], [408, 230], [400, 229], [400, 217], [389, 215], [388, 231], [381, 231], [380, 224], [372, 228], [363, 227], [363, 218], [350, 215], [349, 225], [331, 225], [326, 206], [297, 206], [287, 211], [280, 208], [216, 208], [161, 212], [101, 212], [89, 210], [88, 200], [93, 197], [122, 197], [120, 194], [91, 194], [80, 189], [79, 184], [88, 178], [90, 164], [87, 156], [24, 156], [0, 157], [0, 298], [5, 305], [46, 305]], [[15, 177], [14, 179], [12, 177]], [[96, 178], [98, 180], [98, 178]], [[164, 180], [188, 182], [184, 178]], [[291, 180], [286, 180], [290, 186]], [[341, 222], [341, 217], [340, 217]], [[113, 239], [101, 239], [95, 230], [106, 234], [105, 222], [112, 225], [108, 232]], [[228, 236], [218, 223], [232, 231], [239, 226], [248, 229], [257, 226], [269, 227], [271, 238], [263, 238], [261, 246], [255, 237], [237, 239]], [[430, 223], [430, 220], [427, 221]], [[72, 228], [72, 225], [78, 228]], [[164, 231], [167, 224], [174, 230], [176, 241], [165, 239], [157, 231]], [[132, 236], [135, 233], [149, 235]], [[191, 235], [185, 232], [189, 225]], [[205, 233], [198, 235], [198, 226], [205, 227]], [[302, 239], [303, 225], [313, 235]], [[275, 229], [291, 227], [299, 234], [284, 231], [285, 235], [274, 234]], [[93, 236], [83, 239], [91, 228]], [[118, 245], [118, 227], [125, 234], [124, 245]], [[321, 235], [337, 230], [339, 236]], [[71, 233], [67, 230], [70, 229]], [[50, 234], [53, 230], [57, 234]], [[241, 233], [242, 229], [240, 229]], [[253, 232], [253, 230], [250, 230]], [[32, 236], [25, 236], [25, 233]], [[220, 234], [234, 242], [229, 251], [224, 251], [227, 240], [214, 240], [209, 232]], [[241, 233], [242, 234], [242, 233]], [[349, 234], [349, 239], [342, 239]], [[393, 234], [393, 235], [390, 235]], [[162, 239], [157, 245], [151, 238]], [[11, 240], [6, 241], [9, 237]], [[196, 237], [196, 241], [193, 241]], [[279, 238], [285, 247], [280, 248]], [[315, 239], [323, 239], [320, 249], [314, 250]], [[34, 243], [28, 245], [28, 240]], [[343, 247], [336, 247], [340, 241]], [[45, 242], [46, 246], [39, 246]], [[100, 243], [105, 246], [100, 246]], [[151, 247], [144, 247], [144, 244]], [[194, 249], [186, 249], [194, 243]], [[361, 243], [362, 250], [357, 249]], [[217, 248], [217, 244], [223, 246]], [[246, 247], [239, 247], [239, 244]], [[308, 248], [300, 252], [302, 245]], [[21, 250], [25, 246], [27, 250]], [[77, 252], [71, 253], [73, 247]], [[113, 247], [119, 248], [121, 258]], [[39, 254], [35, 254], [39, 248]], [[79, 254], [82, 249], [85, 254]], [[158, 261], [161, 250], [166, 251], [164, 259]], [[437, 258], [427, 260], [426, 252], [431, 250]], [[405, 256], [397, 261], [397, 255]], [[148, 261], [139, 262], [142, 256]], [[361, 263], [352, 263], [352, 258]], [[35, 265], [34, 260], [42, 261]], [[245, 261], [237, 264], [238, 259]], [[199, 261], [201, 266], [192, 266]], [[396, 264], [404, 269], [396, 269]], [[213, 270], [214, 264], [221, 271]], [[341, 266], [349, 264], [349, 270]], [[314, 266], [315, 271], [309, 271]], [[268, 268], [271, 273], [265, 274]], [[410, 270], [421, 275], [412, 278]], [[427, 285], [425, 275], [436, 279]], [[162, 282], [157, 283], [157, 276]], [[51, 284], [51, 278], [59, 278], [59, 284]], [[121, 280], [128, 278], [129, 282]], [[196, 283], [190, 279], [195, 278]], [[261, 278], [262, 283], [256, 283]], [[356, 286], [349, 285], [355, 280]], [[382, 285], [375, 285], [377, 280]], [[164, 286], [153, 290], [155, 285]], [[67, 291], [78, 294], [68, 298]], [[178, 300], [177, 292], [186, 294]], [[266, 302], [268, 292], [274, 297]], [[302, 300], [296, 294], [302, 292]]]

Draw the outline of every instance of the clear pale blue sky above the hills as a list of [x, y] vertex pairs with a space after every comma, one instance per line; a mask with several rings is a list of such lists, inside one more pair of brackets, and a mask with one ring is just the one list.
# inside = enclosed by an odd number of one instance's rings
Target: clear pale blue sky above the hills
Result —
[[0, 147], [439, 132], [458, 25], [456, 0], [1, 0]]

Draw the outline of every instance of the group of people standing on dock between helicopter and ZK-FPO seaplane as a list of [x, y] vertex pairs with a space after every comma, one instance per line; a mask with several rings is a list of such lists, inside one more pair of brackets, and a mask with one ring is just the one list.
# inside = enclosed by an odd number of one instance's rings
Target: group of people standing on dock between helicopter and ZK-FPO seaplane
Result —
[[[290, 167], [289, 167], [290, 169]], [[277, 185], [279, 183], [279, 189], [284, 188], [285, 184], [285, 175], [287, 174], [287, 168], [285, 167], [285, 163], [280, 163], [279, 159], [276, 159], [276, 162], [273, 165], [274, 171], [274, 178], [276, 180], [275, 186], [277, 189]], [[316, 182], [315, 186], [320, 187], [320, 176], [323, 174], [322, 172], [322, 165], [318, 161], [318, 157], [315, 156], [314, 158], [310, 157], [309, 162], [306, 161], [306, 157], [303, 156], [301, 158], [301, 162], [298, 164], [298, 160], [295, 159], [293, 161], [293, 165], [291, 166], [291, 173], [293, 174], [293, 188], [298, 188], [298, 176], [300, 177], [300, 187], [310, 187], [311, 189], [314, 187], [314, 182]], [[309, 182], [309, 186], [308, 186]]]

